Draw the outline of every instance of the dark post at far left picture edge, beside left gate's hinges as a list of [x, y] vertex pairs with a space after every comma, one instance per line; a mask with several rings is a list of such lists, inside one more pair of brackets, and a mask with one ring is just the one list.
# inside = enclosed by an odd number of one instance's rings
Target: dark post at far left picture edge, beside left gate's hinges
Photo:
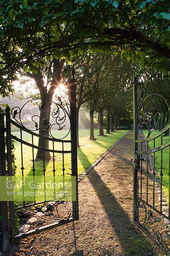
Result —
[[[0, 177], [6, 176], [4, 132], [4, 114], [0, 113]], [[7, 201], [2, 201], [0, 203], [0, 215], [2, 215], [2, 221], [0, 222], [0, 251], [4, 252], [9, 244]]]

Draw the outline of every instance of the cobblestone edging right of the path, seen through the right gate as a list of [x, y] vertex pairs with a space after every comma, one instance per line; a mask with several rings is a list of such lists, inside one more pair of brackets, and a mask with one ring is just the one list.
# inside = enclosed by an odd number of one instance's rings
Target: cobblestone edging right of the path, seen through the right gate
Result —
[[[143, 133], [143, 137], [145, 138], [144, 132]], [[145, 147], [147, 147], [147, 142], [145, 142]], [[151, 155], [151, 153], [148, 154], [148, 159], [149, 159], [149, 164], [151, 166], [152, 172], [153, 172], [153, 156]], [[156, 191], [158, 194], [158, 198], [159, 198], [159, 202], [160, 202], [160, 179], [158, 176], [158, 171], [155, 167], [155, 186], [156, 186]], [[168, 218], [168, 205], [166, 202], [166, 195], [164, 193], [164, 191], [162, 190], [162, 213]], [[170, 221], [167, 220], [166, 218], [164, 218], [164, 222], [165, 224], [170, 224]]]

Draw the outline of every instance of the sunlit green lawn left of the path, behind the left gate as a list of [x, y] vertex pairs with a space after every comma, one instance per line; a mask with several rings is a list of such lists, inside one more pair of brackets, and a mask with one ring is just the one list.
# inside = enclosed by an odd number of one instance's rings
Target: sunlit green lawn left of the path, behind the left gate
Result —
[[[59, 132], [59, 131], [55, 131]], [[54, 133], [55, 133], [54, 132]], [[62, 131], [60, 131], [61, 133]], [[104, 131], [106, 132], [106, 131]], [[92, 163], [96, 161], [108, 148], [110, 148], [117, 140], [123, 137], [128, 131], [119, 130], [117, 132], [111, 132], [107, 134], [106, 137], [98, 136], [98, 129], [94, 130], [96, 141], [89, 140], [89, 130], [80, 129], [79, 131], [79, 141], [80, 148], [78, 148], [78, 174], [84, 172], [84, 170], [89, 167]], [[19, 132], [13, 132], [13, 135], [20, 138]], [[68, 138], [69, 139], [69, 138]], [[23, 132], [23, 140], [32, 143], [31, 135]], [[38, 144], [38, 137], [34, 136], [34, 144]], [[49, 145], [52, 148], [52, 144]], [[54, 144], [54, 148], [57, 150], [62, 150], [62, 145], [59, 142]], [[64, 149], [69, 150], [70, 145], [65, 143]], [[34, 157], [36, 156], [37, 149], [35, 149]], [[19, 142], [15, 143], [15, 156], [17, 172], [16, 175], [21, 175], [21, 144]], [[45, 162], [46, 175], [53, 175], [53, 158], [50, 161]], [[23, 145], [23, 166], [24, 175], [32, 175], [32, 148]], [[62, 175], [62, 154], [55, 154], [55, 175]], [[64, 168], [65, 174], [71, 171], [71, 154], [64, 154]], [[43, 162], [41, 160], [35, 161], [35, 175], [43, 175]]]

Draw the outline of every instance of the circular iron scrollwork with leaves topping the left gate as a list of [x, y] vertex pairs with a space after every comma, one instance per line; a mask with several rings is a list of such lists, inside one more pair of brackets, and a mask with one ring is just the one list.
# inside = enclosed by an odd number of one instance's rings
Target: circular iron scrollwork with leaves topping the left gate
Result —
[[[19, 108], [19, 107], [12, 108], [11, 110], [12, 117], [22, 127], [25, 127], [22, 121], [23, 120], [22, 111], [24, 108], [27, 107], [27, 104], [29, 103], [34, 103], [34, 105], [38, 104], [38, 110], [40, 112], [40, 114], [36, 113], [31, 117], [31, 120], [34, 122], [35, 128], [29, 129], [30, 131], [32, 132], [40, 131], [42, 133], [47, 133], [49, 137], [56, 139], [52, 134], [52, 129], [54, 128], [54, 126], [57, 126], [57, 130], [61, 131], [66, 126], [65, 122], [68, 120], [67, 123], [69, 124], [68, 124], [68, 129], [66, 134], [64, 134], [63, 137], [57, 138], [57, 139], [62, 140], [67, 137], [67, 135], [70, 133], [70, 112], [65, 99], [64, 99], [64, 103], [65, 103], [64, 106], [61, 98], [58, 97], [58, 102], [54, 102], [48, 99], [33, 99], [26, 102], [22, 108]], [[53, 106], [53, 111], [50, 112], [50, 120], [49, 118], [45, 118], [45, 119], [41, 118], [41, 113], [46, 112], [48, 105], [50, 106], [50, 108], [51, 108], [51, 105]], [[38, 121], [36, 120], [37, 118], [38, 118]], [[51, 120], [53, 120], [54, 122], [52, 123]]]

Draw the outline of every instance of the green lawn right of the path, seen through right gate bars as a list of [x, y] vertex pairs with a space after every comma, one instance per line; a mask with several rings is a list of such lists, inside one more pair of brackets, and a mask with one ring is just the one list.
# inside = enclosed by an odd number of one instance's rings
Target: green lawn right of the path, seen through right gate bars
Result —
[[[147, 135], [148, 131], [144, 131], [145, 136]], [[158, 131], [153, 131], [152, 135], [157, 134]], [[152, 136], [151, 135], [151, 136]], [[169, 136], [163, 136], [163, 144], [166, 143], [169, 140]], [[160, 137], [155, 139], [155, 148], [160, 146]], [[153, 148], [153, 140], [149, 141], [149, 147]], [[166, 194], [166, 199], [168, 202], [168, 192], [169, 192], [169, 147], [164, 148], [162, 151], [162, 172], [163, 172], [163, 178], [162, 178], [162, 188]], [[153, 154], [152, 154], [153, 156]], [[155, 166], [158, 171], [158, 174], [160, 173], [160, 151], [155, 152]], [[160, 177], [160, 175], [159, 175]]]

